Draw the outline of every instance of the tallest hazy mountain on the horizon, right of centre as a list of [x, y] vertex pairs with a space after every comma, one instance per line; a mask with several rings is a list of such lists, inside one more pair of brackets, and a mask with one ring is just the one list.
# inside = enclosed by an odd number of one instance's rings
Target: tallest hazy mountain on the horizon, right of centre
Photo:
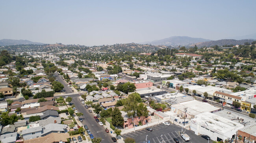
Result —
[[166, 46], [186, 46], [186, 45], [191, 45], [193, 43], [198, 43], [198, 42], [207, 42], [211, 41], [208, 39], [203, 39], [203, 38], [192, 38], [188, 36], [171, 36], [169, 38], [164, 38], [161, 40], [154, 40], [152, 42], [143, 42], [143, 44], [151, 44], [151, 45], [166, 45]]

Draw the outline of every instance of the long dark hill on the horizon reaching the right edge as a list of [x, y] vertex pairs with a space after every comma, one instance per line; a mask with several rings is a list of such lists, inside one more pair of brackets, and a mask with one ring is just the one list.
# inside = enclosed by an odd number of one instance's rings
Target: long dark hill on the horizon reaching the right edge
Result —
[[208, 41], [208, 42], [200, 42], [190, 45], [191, 47], [194, 47], [197, 45], [197, 47], [211, 47], [214, 45], [223, 46], [223, 45], [243, 45], [245, 42], [253, 42], [255, 40], [253, 39], [243, 39], [243, 40], [234, 40], [234, 39], [222, 39], [222, 40], [216, 40], [216, 41]]

